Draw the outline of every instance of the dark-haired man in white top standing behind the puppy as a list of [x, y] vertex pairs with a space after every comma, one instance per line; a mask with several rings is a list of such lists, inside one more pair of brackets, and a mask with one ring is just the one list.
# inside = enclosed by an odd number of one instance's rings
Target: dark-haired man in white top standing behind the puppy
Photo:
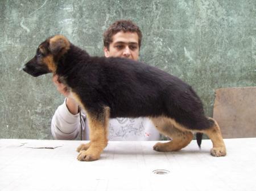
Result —
[[[138, 60], [141, 48], [142, 32], [130, 20], [118, 20], [104, 33], [105, 57], [125, 57]], [[66, 96], [52, 117], [51, 131], [56, 139], [76, 139], [80, 133], [79, 106], [69, 97], [64, 84], [59, 83], [57, 76], [53, 82], [57, 90]], [[82, 139], [89, 140], [89, 127], [86, 113], [81, 111]], [[154, 124], [144, 117], [140, 118], [113, 118], [109, 121], [110, 141], [156, 141], [160, 134]]]

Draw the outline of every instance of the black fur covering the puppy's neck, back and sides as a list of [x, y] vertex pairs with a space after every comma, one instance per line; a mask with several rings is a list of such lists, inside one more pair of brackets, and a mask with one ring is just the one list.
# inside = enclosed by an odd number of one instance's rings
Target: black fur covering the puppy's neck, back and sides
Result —
[[90, 57], [71, 44], [56, 74], [90, 112], [110, 108], [110, 117], [174, 118], [188, 129], [206, 129], [203, 104], [191, 86], [156, 67], [127, 58]]

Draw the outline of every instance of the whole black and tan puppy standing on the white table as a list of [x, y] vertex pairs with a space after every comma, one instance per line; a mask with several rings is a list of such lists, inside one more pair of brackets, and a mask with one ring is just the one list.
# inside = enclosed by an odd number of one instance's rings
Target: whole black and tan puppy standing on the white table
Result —
[[90, 142], [77, 148], [79, 160], [100, 158], [108, 144], [109, 118], [115, 117], [150, 117], [161, 133], [172, 138], [156, 143], [156, 151], [180, 150], [199, 132], [212, 140], [213, 156], [226, 155], [217, 122], [205, 117], [191, 86], [156, 67], [126, 58], [90, 57], [66, 37], [56, 35], [39, 45], [23, 70], [34, 77], [59, 75], [86, 111]]

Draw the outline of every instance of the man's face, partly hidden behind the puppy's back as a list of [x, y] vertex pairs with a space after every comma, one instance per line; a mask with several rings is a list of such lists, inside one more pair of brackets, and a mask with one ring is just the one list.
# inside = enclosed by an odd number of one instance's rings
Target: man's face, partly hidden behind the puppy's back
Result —
[[112, 37], [113, 42], [104, 47], [105, 57], [123, 57], [132, 60], [139, 58], [139, 37], [136, 32], [118, 32]]

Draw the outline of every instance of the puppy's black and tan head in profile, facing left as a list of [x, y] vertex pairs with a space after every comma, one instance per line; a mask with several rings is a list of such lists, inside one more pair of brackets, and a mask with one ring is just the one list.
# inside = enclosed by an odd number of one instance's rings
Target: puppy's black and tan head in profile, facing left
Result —
[[62, 35], [49, 37], [38, 46], [36, 55], [24, 65], [23, 70], [34, 77], [55, 73], [57, 61], [69, 48], [70, 43], [66, 37]]

